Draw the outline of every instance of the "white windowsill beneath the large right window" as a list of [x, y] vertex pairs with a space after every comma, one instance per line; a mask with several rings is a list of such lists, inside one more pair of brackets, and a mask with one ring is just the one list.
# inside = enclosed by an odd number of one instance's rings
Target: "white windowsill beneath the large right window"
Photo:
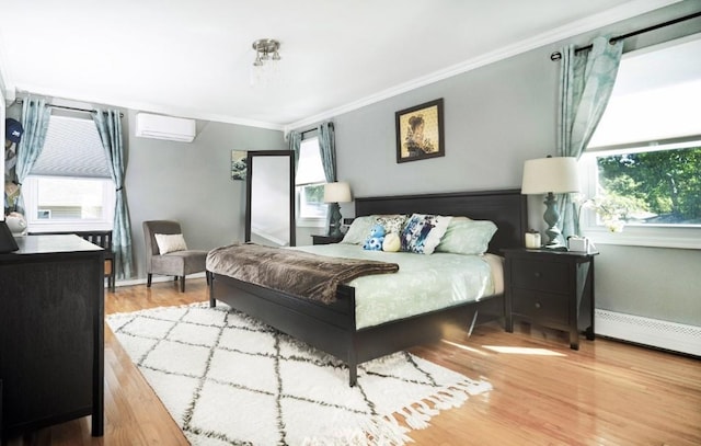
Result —
[[624, 227], [622, 232], [604, 228], [584, 228], [595, 244], [701, 250], [701, 228]]

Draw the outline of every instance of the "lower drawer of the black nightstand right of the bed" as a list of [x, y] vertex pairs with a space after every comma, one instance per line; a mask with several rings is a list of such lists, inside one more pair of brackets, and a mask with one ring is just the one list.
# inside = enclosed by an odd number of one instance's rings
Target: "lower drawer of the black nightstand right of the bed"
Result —
[[567, 296], [515, 288], [513, 311], [543, 325], [566, 325], [568, 321]]

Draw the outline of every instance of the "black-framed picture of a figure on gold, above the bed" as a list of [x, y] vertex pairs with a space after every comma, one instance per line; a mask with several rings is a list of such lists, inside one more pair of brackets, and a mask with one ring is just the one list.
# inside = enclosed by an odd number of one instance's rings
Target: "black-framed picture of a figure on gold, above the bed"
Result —
[[443, 98], [395, 113], [397, 162], [445, 157]]

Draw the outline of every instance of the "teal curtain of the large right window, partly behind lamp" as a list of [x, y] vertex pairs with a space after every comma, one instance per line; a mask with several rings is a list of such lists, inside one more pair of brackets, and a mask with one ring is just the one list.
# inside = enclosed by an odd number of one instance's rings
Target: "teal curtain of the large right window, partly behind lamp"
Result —
[[[560, 119], [558, 152], [579, 159], [586, 150], [611, 96], [623, 53], [623, 41], [594, 39], [590, 50], [575, 52], [574, 45], [561, 49]], [[570, 194], [559, 197], [560, 229], [563, 237], [578, 235], [576, 204]]]

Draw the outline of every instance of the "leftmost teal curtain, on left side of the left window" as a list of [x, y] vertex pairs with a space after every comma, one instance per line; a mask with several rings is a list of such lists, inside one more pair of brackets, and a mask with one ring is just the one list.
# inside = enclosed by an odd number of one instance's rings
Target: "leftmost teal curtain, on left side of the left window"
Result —
[[[22, 182], [27, 178], [34, 163], [42, 153], [50, 117], [51, 110], [46, 105], [46, 100], [27, 98], [22, 103], [21, 123], [22, 127], [24, 127], [24, 134], [18, 146], [18, 163], [15, 167], [18, 185], [20, 187], [22, 187]], [[20, 195], [15, 208], [16, 211], [24, 215], [24, 199], [22, 195]]]

